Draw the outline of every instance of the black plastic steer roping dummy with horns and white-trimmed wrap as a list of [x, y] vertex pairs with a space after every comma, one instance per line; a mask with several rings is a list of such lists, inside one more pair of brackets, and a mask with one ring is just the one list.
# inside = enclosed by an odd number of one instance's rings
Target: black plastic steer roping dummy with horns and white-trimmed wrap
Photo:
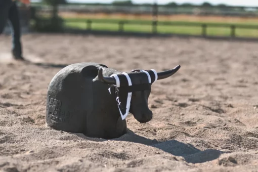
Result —
[[126, 133], [128, 113], [141, 123], [152, 118], [151, 85], [179, 70], [120, 72], [98, 63], [76, 63], [61, 69], [47, 94], [47, 126], [55, 130], [112, 139]]

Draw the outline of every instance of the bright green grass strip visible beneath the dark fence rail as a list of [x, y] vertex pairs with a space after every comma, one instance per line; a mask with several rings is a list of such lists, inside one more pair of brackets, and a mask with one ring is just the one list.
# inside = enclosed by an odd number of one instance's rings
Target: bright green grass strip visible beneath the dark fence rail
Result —
[[[106, 30], [106, 31], [118, 31], [119, 30], [119, 19], [91, 19], [92, 30]], [[65, 19], [65, 26], [76, 29], [87, 29], [87, 19]], [[151, 21], [148, 20], [126, 20], [124, 24], [124, 31], [131, 32], [152, 32]], [[130, 23], [131, 22], [131, 23]], [[133, 23], [132, 23], [133, 22]], [[202, 24], [207, 24], [207, 35], [212, 36], [230, 36], [231, 29], [230, 25], [236, 26], [257, 26], [256, 29], [236, 28], [236, 36], [238, 37], [258, 37], [258, 25], [256, 23], [214, 23], [214, 22], [186, 22], [186, 21], [174, 21], [166, 22], [162, 21], [163, 24], [173, 25], [158, 25], [158, 33], [175, 33], [175, 34], [190, 34], [200, 35], [202, 33]], [[179, 26], [177, 25], [179, 24]], [[195, 26], [200, 25], [200, 26]]]

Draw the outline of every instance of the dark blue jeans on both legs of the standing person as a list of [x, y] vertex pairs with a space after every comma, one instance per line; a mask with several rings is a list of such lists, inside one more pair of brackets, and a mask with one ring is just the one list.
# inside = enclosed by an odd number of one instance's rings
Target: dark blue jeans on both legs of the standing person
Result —
[[12, 53], [22, 55], [20, 18], [16, 2], [0, 0], [0, 34], [3, 33], [7, 22], [12, 26]]

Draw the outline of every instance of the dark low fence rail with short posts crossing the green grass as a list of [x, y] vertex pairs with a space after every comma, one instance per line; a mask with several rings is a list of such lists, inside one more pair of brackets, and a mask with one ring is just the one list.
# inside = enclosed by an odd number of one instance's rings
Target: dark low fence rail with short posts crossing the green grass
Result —
[[[143, 21], [143, 22], [136, 22], [136, 21], [98, 21], [98, 20], [66, 20], [66, 22], [85, 22], [86, 23], [86, 30], [92, 30], [93, 23], [102, 23], [102, 24], [117, 24], [117, 29], [120, 32], [124, 32], [124, 25], [126, 24], [135, 24], [135, 25], [149, 25], [152, 26], [152, 33], [156, 34], [158, 32], [158, 26], [195, 26], [201, 28], [200, 35], [207, 36], [207, 28], [208, 27], [217, 27], [217, 28], [230, 28], [230, 36], [236, 37], [236, 29], [257, 29], [258, 32], [258, 25], [239, 25], [239, 24], [217, 24], [217, 23], [184, 23], [184, 22], [162, 22], [162, 21]], [[173, 33], [173, 32], [171, 32]]]

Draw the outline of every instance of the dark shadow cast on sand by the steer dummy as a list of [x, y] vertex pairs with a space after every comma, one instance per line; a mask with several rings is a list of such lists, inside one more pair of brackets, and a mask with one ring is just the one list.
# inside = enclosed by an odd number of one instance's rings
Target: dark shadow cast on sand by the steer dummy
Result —
[[[86, 139], [92, 140], [96, 142], [105, 142], [106, 139], [97, 139], [97, 138], [89, 138], [84, 136], [83, 134], [73, 133], [74, 135]], [[216, 149], [206, 149], [201, 151], [188, 143], [182, 143], [177, 140], [169, 140], [164, 142], [159, 142], [157, 140], [147, 139], [145, 137], [139, 136], [127, 129], [127, 133], [120, 138], [110, 139], [112, 141], [125, 141], [125, 142], [133, 142], [140, 143], [143, 145], [151, 146], [163, 150], [167, 153], [170, 153], [175, 156], [184, 157], [185, 161], [188, 163], [203, 163], [207, 161], [211, 161], [217, 159], [221, 154], [226, 153]]]

